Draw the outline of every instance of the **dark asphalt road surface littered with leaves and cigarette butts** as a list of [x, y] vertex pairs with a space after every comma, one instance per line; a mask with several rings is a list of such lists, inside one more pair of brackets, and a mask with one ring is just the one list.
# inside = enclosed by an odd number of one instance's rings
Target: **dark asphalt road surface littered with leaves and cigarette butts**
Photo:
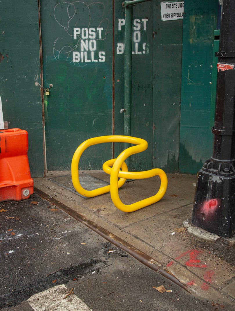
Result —
[[[66, 285], [66, 299], [88, 308], [73, 310], [230, 310], [189, 295], [36, 194], [0, 206], [0, 309], [50, 311], [53, 288]], [[50, 288], [46, 307], [29, 304]]]

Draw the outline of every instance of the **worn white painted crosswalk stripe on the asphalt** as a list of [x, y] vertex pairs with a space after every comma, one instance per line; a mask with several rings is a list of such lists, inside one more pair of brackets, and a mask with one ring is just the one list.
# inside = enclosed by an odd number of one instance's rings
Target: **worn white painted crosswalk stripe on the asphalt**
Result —
[[58, 285], [31, 296], [28, 303], [35, 311], [92, 311], [74, 294], [63, 299], [67, 292], [65, 285]]

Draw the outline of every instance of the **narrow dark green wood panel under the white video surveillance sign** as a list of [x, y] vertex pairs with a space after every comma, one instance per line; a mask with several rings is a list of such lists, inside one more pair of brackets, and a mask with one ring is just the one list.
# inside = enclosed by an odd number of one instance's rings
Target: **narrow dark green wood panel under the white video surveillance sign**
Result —
[[160, 2], [153, 5], [153, 165], [175, 173], [179, 168], [183, 20], [161, 21]]

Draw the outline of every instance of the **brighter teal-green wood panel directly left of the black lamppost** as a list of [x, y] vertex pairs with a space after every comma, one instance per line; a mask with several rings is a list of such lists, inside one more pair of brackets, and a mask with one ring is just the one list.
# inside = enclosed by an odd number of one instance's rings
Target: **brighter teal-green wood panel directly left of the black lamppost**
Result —
[[181, 173], [197, 173], [212, 155], [210, 96], [217, 10], [218, 0], [184, 1], [179, 158]]

